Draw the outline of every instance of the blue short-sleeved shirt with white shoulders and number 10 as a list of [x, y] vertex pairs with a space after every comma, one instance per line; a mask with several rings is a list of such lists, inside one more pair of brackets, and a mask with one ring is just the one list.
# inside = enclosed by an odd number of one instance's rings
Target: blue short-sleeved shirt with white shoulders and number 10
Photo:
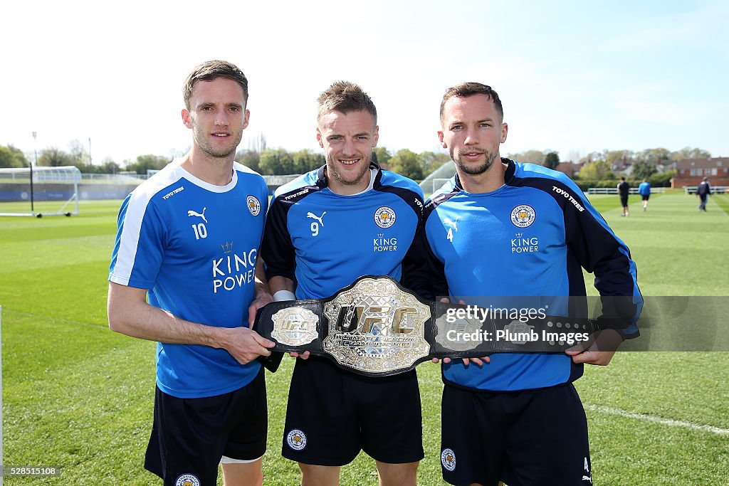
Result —
[[[109, 281], [147, 289], [149, 304], [208, 326], [247, 326], [268, 187], [249, 168], [215, 186], [175, 160], [122, 203]], [[224, 349], [157, 343], [157, 386], [179, 398], [237, 390], [260, 365]]]

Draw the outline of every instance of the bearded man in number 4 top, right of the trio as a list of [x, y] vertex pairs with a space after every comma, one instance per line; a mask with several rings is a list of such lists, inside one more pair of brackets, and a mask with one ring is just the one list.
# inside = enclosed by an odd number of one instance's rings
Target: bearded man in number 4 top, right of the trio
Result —
[[[474, 305], [526, 296], [518, 298], [560, 315], [554, 312], [567, 297], [585, 296], [585, 268], [601, 296], [617, 296], [617, 303], [603, 297], [598, 321], [611, 329], [589, 347], [494, 353], [486, 363], [443, 360], [443, 478], [453, 485], [590, 485], [587, 420], [572, 382], [583, 363], [608, 364], [619, 342], [638, 335], [635, 264], [567, 176], [499, 157], [508, 127], [491, 87], [449, 88], [440, 121], [456, 176], [424, 208], [403, 267], [414, 291]], [[577, 301], [586, 313], [584, 298]]]

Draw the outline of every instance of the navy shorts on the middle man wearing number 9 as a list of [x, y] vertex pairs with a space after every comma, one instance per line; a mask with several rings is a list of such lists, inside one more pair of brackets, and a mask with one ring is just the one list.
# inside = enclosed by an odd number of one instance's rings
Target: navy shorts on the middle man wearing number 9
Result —
[[360, 450], [384, 463], [423, 458], [416, 372], [370, 378], [319, 356], [297, 358], [281, 454], [305, 464], [344, 466]]

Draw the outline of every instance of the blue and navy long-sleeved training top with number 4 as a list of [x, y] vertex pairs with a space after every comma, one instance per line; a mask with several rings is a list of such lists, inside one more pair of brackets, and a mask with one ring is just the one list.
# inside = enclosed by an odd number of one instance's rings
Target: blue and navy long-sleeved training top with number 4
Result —
[[[636, 337], [642, 296], [625, 243], [563, 173], [502, 162], [505, 184], [494, 192], [465, 192], [456, 175], [432, 195], [406, 284], [426, 298], [447, 292], [452, 302], [475, 305], [483, 305], [478, 297], [531, 296], [534, 307], [560, 315], [554, 313], [566, 299], [559, 297], [585, 296], [585, 268], [601, 296], [633, 297], [633, 315], [598, 320], [624, 318], [620, 332]], [[483, 368], [459, 360], [443, 366], [445, 383], [488, 391], [542, 388], [581, 375], [582, 365], [565, 354], [496, 353]]]

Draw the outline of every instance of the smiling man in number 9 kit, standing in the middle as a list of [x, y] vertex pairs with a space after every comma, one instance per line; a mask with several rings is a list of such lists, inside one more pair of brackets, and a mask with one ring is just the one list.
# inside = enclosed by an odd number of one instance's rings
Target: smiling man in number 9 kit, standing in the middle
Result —
[[[372, 161], [377, 110], [361, 87], [335, 82], [318, 99], [326, 165], [276, 190], [261, 256], [275, 300], [321, 299], [362, 275], [401, 278], [423, 193]], [[382, 485], [415, 485], [423, 458], [416, 372], [370, 378], [308, 351], [296, 360], [282, 454], [302, 484], [336, 485], [364, 450]]]

